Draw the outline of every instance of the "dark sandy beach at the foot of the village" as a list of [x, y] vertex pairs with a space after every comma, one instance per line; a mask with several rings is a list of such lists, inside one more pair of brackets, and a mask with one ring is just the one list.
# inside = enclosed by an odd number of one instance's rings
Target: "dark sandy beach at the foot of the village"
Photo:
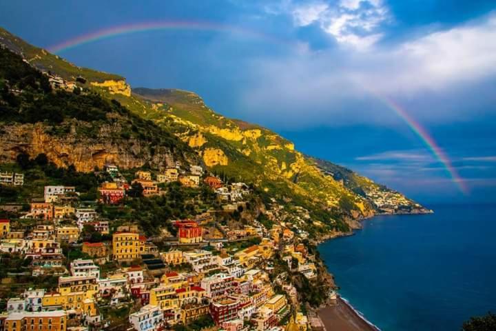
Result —
[[367, 323], [346, 302], [338, 297], [337, 305], [329, 305], [318, 311], [327, 331], [378, 331]]

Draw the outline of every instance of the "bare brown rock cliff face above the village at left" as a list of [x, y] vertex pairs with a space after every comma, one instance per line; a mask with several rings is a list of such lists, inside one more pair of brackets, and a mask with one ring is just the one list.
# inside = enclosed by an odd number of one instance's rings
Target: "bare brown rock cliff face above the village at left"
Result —
[[41, 123], [3, 126], [2, 129], [1, 162], [14, 161], [21, 152], [31, 157], [43, 153], [60, 167], [74, 165], [78, 171], [89, 172], [94, 167], [103, 168], [105, 163], [114, 163], [124, 169], [142, 167], [145, 163], [162, 168], [174, 159], [169, 148], [155, 146], [152, 154], [151, 146], [145, 141], [111, 137], [105, 133], [111, 130], [110, 126], [103, 126], [96, 138], [85, 138], [78, 134], [59, 137], [47, 133], [50, 132], [50, 126]]

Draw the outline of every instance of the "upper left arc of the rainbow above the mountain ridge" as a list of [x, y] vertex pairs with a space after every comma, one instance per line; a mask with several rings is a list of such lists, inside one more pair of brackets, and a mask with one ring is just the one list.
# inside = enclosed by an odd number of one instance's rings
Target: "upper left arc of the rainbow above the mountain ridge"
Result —
[[289, 42], [283, 39], [276, 38], [270, 34], [265, 34], [255, 30], [240, 28], [238, 26], [229, 26], [219, 23], [211, 23], [207, 21], [160, 21], [160, 22], [145, 22], [131, 23], [123, 26], [113, 26], [102, 30], [97, 30], [87, 34], [81, 34], [62, 43], [48, 47], [52, 53], [60, 53], [77, 46], [81, 46], [94, 41], [109, 39], [113, 37], [123, 36], [125, 34], [161, 31], [161, 30], [200, 30], [211, 32], [227, 32], [231, 34], [240, 34], [246, 37], [269, 41], [271, 43], [287, 44]]

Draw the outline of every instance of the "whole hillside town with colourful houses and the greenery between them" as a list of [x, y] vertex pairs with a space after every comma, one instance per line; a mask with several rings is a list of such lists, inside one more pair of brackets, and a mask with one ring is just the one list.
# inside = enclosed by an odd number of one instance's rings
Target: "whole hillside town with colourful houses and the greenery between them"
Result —
[[[322, 330], [306, 210], [201, 165], [0, 173], [0, 330]], [[284, 220], [284, 221], [282, 221]]]

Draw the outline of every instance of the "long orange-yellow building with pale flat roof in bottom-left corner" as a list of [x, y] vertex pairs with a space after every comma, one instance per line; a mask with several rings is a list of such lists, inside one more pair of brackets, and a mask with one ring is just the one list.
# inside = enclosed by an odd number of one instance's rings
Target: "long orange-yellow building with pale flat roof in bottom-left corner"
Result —
[[5, 320], [5, 331], [65, 331], [67, 317], [63, 310], [52, 312], [14, 312]]

